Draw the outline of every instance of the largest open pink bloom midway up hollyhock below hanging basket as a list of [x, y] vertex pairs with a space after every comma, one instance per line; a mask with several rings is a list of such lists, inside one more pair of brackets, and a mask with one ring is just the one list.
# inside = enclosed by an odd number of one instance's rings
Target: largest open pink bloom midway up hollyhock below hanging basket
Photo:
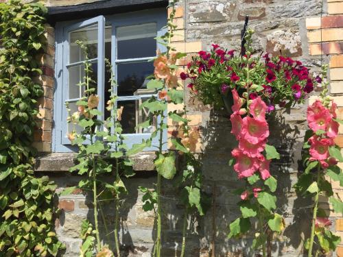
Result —
[[249, 143], [257, 144], [269, 136], [268, 123], [251, 117], [244, 117], [241, 137]]

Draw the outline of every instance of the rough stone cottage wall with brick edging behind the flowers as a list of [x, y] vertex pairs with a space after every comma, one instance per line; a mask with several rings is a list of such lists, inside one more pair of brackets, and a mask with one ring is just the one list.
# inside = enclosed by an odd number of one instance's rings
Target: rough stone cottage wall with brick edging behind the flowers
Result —
[[[73, 5], [96, 0], [47, 0], [47, 5]], [[310, 66], [313, 71], [320, 69], [320, 21], [322, 21], [324, 61], [331, 66], [331, 93], [341, 107], [343, 118], [343, 1], [323, 0], [183, 0], [176, 12], [178, 36], [173, 45], [178, 51], [189, 53], [189, 56], [179, 60], [178, 65], [184, 68], [190, 56], [200, 50], [209, 50], [212, 43], [217, 43], [228, 49], [239, 49], [240, 33], [246, 14], [250, 16], [249, 26], [255, 29], [255, 49], [292, 56]], [[320, 13], [323, 18], [320, 19]], [[328, 16], [327, 16], [328, 15]], [[342, 19], [343, 21], [343, 19]], [[327, 25], [325, 25], [327, 24]], [[325, 27], [326, 26], [326, 27]], [[319, 33], [320, 34], [320, 33]], [[325, 36], [324, 36], [325, 35]], [[331, 35], [331, 36], [330, 36]], [[54, 80], [51, 68], [54, 67], [54, 30], [47, 26], [47, 37], [51, 47], [42, 58], [45, 74], [37, 79], [43, 84], [45, 96], [40, 103], [41, 128], [35, 134], [36, 147], [39, 151], [51, 151], [52, 102]], [[329, 56], [328, 56], [329, 55]], [[205, 217], [197, 218], [189, 227], [186, 256], [253, 256], [248, 252], [252, 240], [250, 236], [235, 241], [228, 240], [228, 223], [239, 215], [237, 209], [238, 197], [233, 195], [240, 182], [237, 181], [232, 168], [228, 167], [230, 151], [235, 146], [230, 134], [230, 122], [227, 114], [213, 112], [209, 106], [191, 98], [188, 88], [185, 91], [185, 101], [189, 108], [189, 118], [194, 129], [198, 130], [202, 140], [196, 149], [202, 160], [204, 173], [204, 191], [213, 199], [211, 209]], [[317, 91], [320, 90], [317, 88]], [[316, 95], [316, 93], [314, 93]], [[64, 108], [62, 106], [61, 108]], [[168, 110], [178, 110], [182, 105], [169, 105]], [[285, 217], [286, 229], [272, 245], [274, 256], [301, 256], [303, 238], [309, 234], [311, 212], [306, 199], [300, 199], [292, 186], [297, 180], [300, 168], [300, 150], [303, 136], [307, 128], [305, 121], [306, 106], [296, 106], [292, 110], [277, 112], [271, 118], [271, 142], [281, 153], [281, 160], [272, 164], [272, 173], [279, 180], [278, 209]], [[168, 134], [177, 134], [178, 125], [168, 121]], [[340, 130], [342, 132], [343, 130]], [[338, 144], [343, 145], [343, 134], [338, 138]], [[156, 182], [156, 173], [152, 165], [154, 154], [144, 152], [134, 158], [137, 162], [134, 169], [137, 175], [124, 180], [128, 185], [129, 194], [121, 210], [121, 239], [123, 252], [128, 256], [150, 256], [154, 245], [154, 213], [143, 212], [141, 193], [138, 186], [152, 187]], [[45, 154], [37, 158], [37, 174], [48, 174], [51, 180], [58, 184], [58, 191], [66, 186], [73, 186], [82, 177], [71, 174], [68, 168], [73, 164], [71, 154]], [[110, 179], [110, 178], [108, 178]], [[163, 256], [175, 256], [180, 249], [183, 206], [178, 202], [177, 192], [170, 181], [163, 185]], [[335, 184], [335, 190], [340, 193], [340, 187]], [[64, 256], [78, 256], [80, 246], [80, 224], [82, 219], [93, 219], [93, 206], [86, 195], [80, 191], [59, 198], [62, 212], [56, 220], [56, 231], [61, 241], [67, 245]], [[327, 203], [323, 199], [323, 203]], [[114, 210], [111, 203], [104, 203], [106, 220], [113, 220]], [[329, 211], [330, 206], [327, 205]], [[332, 229], [343, 234], [343, 222], [340, 217]], [[103, 225], [102, 221], [100, 224]], [[300, 234], [303, 231], [303, 234]], [[340, 232], [342, 231], [342, 232]], [[106, 238], [106, 237], [104, 237]], [[113, 234], [110, 234], [113, 239]], [[110, 240], [113, 241], [113, 240]], [[343, 256], [343, 247], [338, 248], [338, 256]]]

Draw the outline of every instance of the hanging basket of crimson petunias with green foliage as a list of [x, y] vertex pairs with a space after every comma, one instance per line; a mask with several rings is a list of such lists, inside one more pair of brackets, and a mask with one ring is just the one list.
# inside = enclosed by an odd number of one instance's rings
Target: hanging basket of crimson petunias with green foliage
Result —
[[[232, 98], [231, 90], [246, 90], [247, 74], [245, 55], [235, 55], [235, 50], [225, 50], [212, 45], [209, 52], [200, 51], [198, 56], [187, 64], [188, 73], [182, 73], [182, 79], [189, 81], [193, 97], [215, 108], [224, 107], [225, 99]], [[314, 79], [309, 69], [300, 61], [284, 56], [271, 57], [262, 53], [250, 56], [250, 93], [249, 99], [261, 97], [267, 103], [268, 111], [275, 105], [292, 106], [304, 103], [308, 93], [314, 90]]]

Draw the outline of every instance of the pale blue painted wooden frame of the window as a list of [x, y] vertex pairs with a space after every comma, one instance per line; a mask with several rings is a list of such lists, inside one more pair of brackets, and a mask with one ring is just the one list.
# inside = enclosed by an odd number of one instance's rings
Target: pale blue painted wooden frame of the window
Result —
[[[56, 23], [56, 62], [55, 62], [55, 79], [56, 89], [54, 93], [54, 130], [53, 130], [53, 142], [52, 149], [55, 152], [70, 152], [75, 151], [76, 147], [70, 144], [67, 139], [67, 110], [64, 106], [64, 101], [68, 95], [68, 71], [66, 65], [69, 64], [69, 32], [75, 29], [88, 27], [89, 25], [98, 24], [98, 77], [97, 77], [97, 88], [100, 99], [104, 99], [105, 88], [104, 88], [104, 73], [105, 73], [105, 18], [104, 16], [97, 16], [93, 19], [86, 21], [74, 22], [63, 22]], [[162, 36], [166, 32], [165, 25], [167, 23], [167, 12], [166, 10], [159, 9], [158, 12], [155, 10], [145, 10], [139, 12], [131, 12], [126, 14], [115, 14], [113, 16], [106, 16], [106, 25], [112, 26], [112, 64], [115, 69], [115, 75], [117, 77], [117, 45], [116, 41], [116, 29], [117, 27], [128, 26], [128, 25], [139, 25], [143, 23], [156, 23], [157, 25], [157, 36]], [[158, 49], [165, 51], [165, 46], [158, 44]], [[100, 61], [101, 60], [101, 61]], [[146, 96], [145, 96], [146, 97]], [[144, 98], [145, 98], [144, 97]], [[136, 96], [120, 97], [119, 101], [127, 101], [129, 99], [138, 99]], [[104, 113], [104, 101], [99, 101], [99, 110]], [[167, 114], [167, 111], [165, 112]], [[159, 122], [159, 121], [158, 121]], [[165, 119], [167, 123], [167, 119]], [[126, 134], [126, 143], [130, 147], [134, 143], [140, 143], [142, 139], [150, 138], [150, 134]], [[163, 149], [167, 149], [167, 130], [163, 133]], [[145, 149], [145, 151], [155, 150], [158, 145], [157, 138], [154, 138], [152, 147]]]

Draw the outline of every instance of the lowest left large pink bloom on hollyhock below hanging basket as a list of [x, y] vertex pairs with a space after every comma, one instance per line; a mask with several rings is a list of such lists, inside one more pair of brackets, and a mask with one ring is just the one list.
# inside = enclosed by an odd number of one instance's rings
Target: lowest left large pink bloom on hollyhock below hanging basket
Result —
[[233, 149], [231, 154], [236, 159], [233, 169], [238, 173], [238, 178], [248, 178], [259, 169], [259, 161], [243, 154], [239, 149]]

